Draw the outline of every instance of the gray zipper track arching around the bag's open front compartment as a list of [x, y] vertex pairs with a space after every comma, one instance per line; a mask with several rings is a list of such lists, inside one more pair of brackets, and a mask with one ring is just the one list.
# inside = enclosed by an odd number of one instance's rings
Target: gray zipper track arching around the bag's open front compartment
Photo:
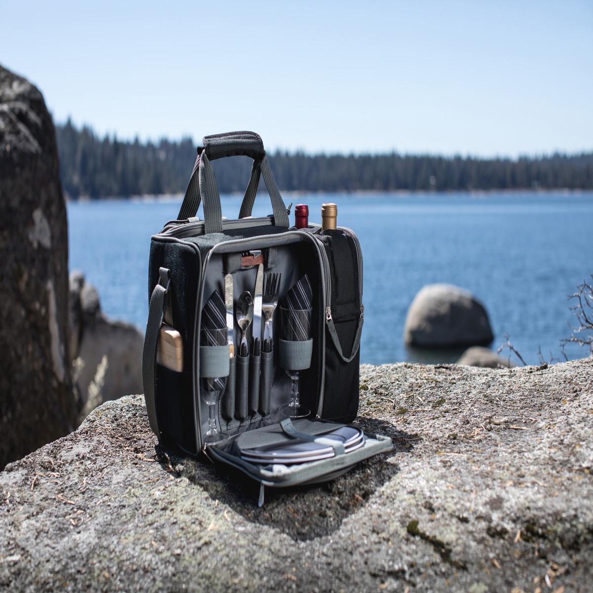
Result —
[[[249, 219], [250, 221], [253, 221], [253, 219]], [[326, 284], [325, 284], [325, 280], [324, 278], [328, 275], [328, 273], [326, 272], [326, 266], [324, 265], [326, 262], [324, 262], [323, 260], [323, 256], [322, 253], [325, 254], [325, 250], [323, 248], [323, 246], [320, 248], [320, 246], [318, 245], [319, 241], [315, 240], [313, 238], [313, 236], [306, 232], [306, 231], [287, 231], [287, 232], [283, 232], [280, 235], [271, 235], [270, 237], [266, 237], [266, 238], [257, 238], [257, 237], [248, 237], [248, 238], [244, 238], [244, 239], [232, 239], [229, 241], [221, 241], [221, 243], [217, 243], [215, 246], [213, 246], [211, 248], [211, 250], [208, 251], [208, 255], [206, 256], [206, 259], [204, 260], [204, 262], [202, 263], [202, 279], [200, 280], [200, 290], [198, 292], [198, 300], [197, 300], [197, 305], [196, 305], [196, 314], [195, 314], [195, 320], [194, 320], [194, 350], [196, 347], [196, 343], [197, 340], [199, 339], [197, 337], [197, 327], [199, 327], [199, 323], [201, 320], [201, 316], [202, 316], [202, 308], [199, 306], [202, 303], [202, 299], [203, 299], [203, 292], [204, 292], [204, 286], [206, 284], [206, 267], [208, 267], [208, 262], [210, 261], [210, 258], [212, 257], [212, 254], [216, 251], [216, 249], [218, 247], [221, 246], [228, 246], [228, 245], [243, 245], [245, 244], [246, 246], [248, 246], [248, 244], [253, 243], [258, 247], [273, 247], [273, 245], [278, 241], [279, 237], [286, 237], [286, 235], [298, 235], [299, 237], [308, 237], [310, 238], [310, 240], [313, 242], [315, 249], [317, 249], [317, 254], [318, 257], [320, 257], [321, 259], [321, 267], [324, 268], [324, 277], [322, 278], [321, 281], [321, 291], [322, 291], [322, 295], [323, 295], [323, 301], [327, 302], [327, 290], [326, 290]], [[327, 255], [326, 255], [326, 261], [327, 261]], [[331, 297], [331, 292], [330, 292], [330, 297]], [[321, 388], [320, 388], [320, 394], [319, 394], [319, 401], [320, 404], [318, 404], [317, 406], [317, 417], [319, 416], [320, 413], [320, 409], [321, 407], [323, 407], [323, 393], [324, 393], [324, 387], [325, 387], [325, 378], [326, 378], [326, 338], [325, 338], [326, 334], [325, 334], [325, 327], [321, 336]], [[196, 358], [194, 357], [194, 359], [196, 360]], [[197, 396], [199, 398], [199, 394]], [[198, 403], [198, 409], [199, 409], [199, 403]], [[202, 441], [202, 425], [200, 423], [199, 426], [199, 434], [200, 434], [200, 444]], [[205, 450], [206, 445], [203, 446], [203, 449]]]

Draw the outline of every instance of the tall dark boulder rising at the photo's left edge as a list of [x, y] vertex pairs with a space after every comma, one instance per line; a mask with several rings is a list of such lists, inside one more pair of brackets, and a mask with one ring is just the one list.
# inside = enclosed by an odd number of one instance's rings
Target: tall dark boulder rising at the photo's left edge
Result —
[[0, 468], [75, 426], [68, 231], [52, 118], [0, 66]]

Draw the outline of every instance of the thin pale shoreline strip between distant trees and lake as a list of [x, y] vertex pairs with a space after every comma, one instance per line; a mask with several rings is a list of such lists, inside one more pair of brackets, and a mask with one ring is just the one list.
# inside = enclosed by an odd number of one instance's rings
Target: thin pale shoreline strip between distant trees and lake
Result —
[[[259, 190], [258, 193], [262, 193], [265, 195], [266, 190]], [[575, 194], [586, 194], [591, 193], [593, 194], [593, 189], [572, 189], [568, 187], [557, 187], [555, 189], [550, 188], [540, 188], [540, 189], [531, 189], [531, 188], [524, 188], [524, 189], [474, 189], [474, 190], [463, 190], [463, 189], [456, 189], [456, 190], [407, 190], [407, 189], [394, 189], [394, 190], [377, 190], [377, 189], [358, 189], [358, 190], [339, 190], [336, 192], [326, 192], [326, 191], [307, 191], [307, 190], [280, 190], [280, 193], [283, 196], [311, 196], [311, 195], [318, 195], [318, 196], [335, 196], [335, 195], [352, 195], [352, 196], [380, 196], [380, 195], [393, 195], [393, 196], [419, 196], [419, 195], [438, 195], [438, 196], [446, 196], [446, 195], [454, 195], [454, 194], [466, 194], [470, 196], [480, 196], [480, 195], [518, 195], [522, 193], [537, 193], [537, 194], [563, 194], [563, 195], [575, 195]], [[221, 193], [221, 196], [243, 196], [242, 192], [224, 192]], [[183, 200], [183, 193], [176, 193], [176, 194], [146, 194], [140, 196], [100, 196], [100, 197], [90, 197], [90, 196], [80, 196], [78, 198], [72, 198], [70, 196], [66, 196], [66, 200], [68, 202], [76, 203], [76, 202], [104, 202], [107, 200], [121, 200], [126, 202], [180, 202]]]

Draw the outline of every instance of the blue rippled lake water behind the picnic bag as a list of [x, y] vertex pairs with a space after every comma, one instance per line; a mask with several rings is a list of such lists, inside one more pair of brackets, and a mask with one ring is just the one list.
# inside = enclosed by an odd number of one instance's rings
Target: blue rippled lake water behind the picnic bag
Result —
[[[407, 308], [428, 283], [448, 282], [486, 306], [495, 339], [505, 334], [528, 363], [560, 354], [573, 323], [567, 297], [593, 273], [593, 193], [285, 194], [320, 221], [323, 202], [338, 204], [338, 224], [356, 231], [364, 256], [365, 325], [361, 361], [449, 362], [458, 353], [407, 350]], [[259, 195], [253, 214], [271, 210]], [[222, 196], [236, 218], [241, 196]], [[69, 266], [99, 291], [104, 312], [141, 329], [148, 315], [151, 234], [177, 216], [180, 199], [68, 204]], [[201, 215], [201, 213], [200, 213]], [[294, 218], [291, 219], [294, 221]], [[586, 355], [567, 348], [569, 358]]]

